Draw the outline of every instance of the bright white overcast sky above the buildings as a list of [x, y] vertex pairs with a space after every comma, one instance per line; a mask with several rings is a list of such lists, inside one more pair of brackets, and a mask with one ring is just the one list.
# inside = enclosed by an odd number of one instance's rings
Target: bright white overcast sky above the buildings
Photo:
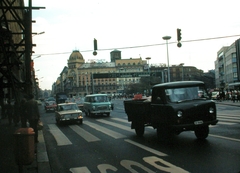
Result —
[[43, 90], [52, 88], [74, 50], [85, 61], [110, 62], [110, 52], [118, 49], [122, 59], [151, 57], [150, 64], [167, 64], [162, 37], [171, 36], [170, 66], [184, 63], [207, 72], [215, 68], [217, 52], [240, 38], [239, 0], [32, 0], [32, 5], [45, 7], [32, 12], [32, 32], [44, 32], [33, 36], [32, 56]]

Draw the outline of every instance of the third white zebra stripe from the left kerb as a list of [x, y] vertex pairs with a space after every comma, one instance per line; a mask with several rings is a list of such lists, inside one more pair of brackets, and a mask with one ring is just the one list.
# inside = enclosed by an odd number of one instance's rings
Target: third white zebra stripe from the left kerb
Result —
[[96, 129], [97, 131], [105, 133], [106, 135], [111, 136], [111, 137], [113, 137], [115, 139], [126, 138], [125, 135], [122, 135], [121, 133], [117, 133], [117, 132], [115, 132], [113, 130], [110, 130], [108, 128], [102, 127], [100, 125], [97, 125], [96, 123], [91, 123], [89, 121], [84, 121], [84, 124], [86, 124], [86, 125], [94, 128], [94, 129]]

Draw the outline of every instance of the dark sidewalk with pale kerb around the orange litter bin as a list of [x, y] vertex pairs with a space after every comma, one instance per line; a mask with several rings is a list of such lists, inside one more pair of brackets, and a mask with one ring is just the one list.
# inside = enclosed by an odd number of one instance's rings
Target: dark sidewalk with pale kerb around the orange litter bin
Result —
[[[18, 173], [19, 166], [15, 162], [14, 132], [20, 128], [8, 125], [7, 119], [0, 119], [0, 172]], [[39, 143], [35, 144], [36, 153], [32, 164], [23, 166], [23, 173], [51, 173], [46, 152], [43, 132], [39, 131]]]

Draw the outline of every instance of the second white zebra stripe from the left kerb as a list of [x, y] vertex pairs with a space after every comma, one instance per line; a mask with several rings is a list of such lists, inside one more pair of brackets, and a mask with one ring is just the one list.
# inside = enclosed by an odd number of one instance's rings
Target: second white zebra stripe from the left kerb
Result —
[[91, 133], [87, 132], [86, 130], [82, 129], [77, 125], [70, 125], [69, 127], [88, 142], [100, 141], [99, 138], [97, 138], [96, 136], [92, 135]]

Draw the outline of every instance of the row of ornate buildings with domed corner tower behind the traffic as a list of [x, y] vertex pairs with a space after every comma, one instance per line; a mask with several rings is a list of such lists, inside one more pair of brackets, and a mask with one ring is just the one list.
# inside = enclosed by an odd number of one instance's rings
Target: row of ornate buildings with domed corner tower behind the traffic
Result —
[[[68, 66], [63, 68], [54, 83], [55, 94], [66, 92], [70, 97], [83, 97], [92, 93], [121, 95], [128, 86], [139, 83], [141, 77], [154, 78], [153, 84], [167, 82], [166, 64], [149, 65], [141, 57], [122, 59], [119, 50], [110, 52], [110, 60], [111, 62], [85, 62], [78, 50], [73, 51], [68, 59]], [[202, 70], [180, 64], [170, 67], [170, 78], [171, 81], [182, 81], [205, 80], [206, 77]], [[212, 81], [213, 78], [208, 83], [214, 83]]]

